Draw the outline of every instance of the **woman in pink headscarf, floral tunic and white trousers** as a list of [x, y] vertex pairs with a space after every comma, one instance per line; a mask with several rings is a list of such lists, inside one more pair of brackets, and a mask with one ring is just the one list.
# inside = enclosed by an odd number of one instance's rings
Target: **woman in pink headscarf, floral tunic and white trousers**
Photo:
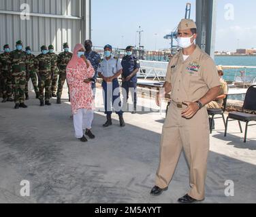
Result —
[[93, 122], [93, 110], [95, 102], [91, 89], [91, 78], [95, 71], [91, 62], [84, 56], [84, 46], [77, 44], [74, 54], [67, 65], [67, 83], [69, 84], [71, 110], [73, 113], [76, 138], [81, 142], [87, 142], [85, 135], [95, 138], [91, 132]]

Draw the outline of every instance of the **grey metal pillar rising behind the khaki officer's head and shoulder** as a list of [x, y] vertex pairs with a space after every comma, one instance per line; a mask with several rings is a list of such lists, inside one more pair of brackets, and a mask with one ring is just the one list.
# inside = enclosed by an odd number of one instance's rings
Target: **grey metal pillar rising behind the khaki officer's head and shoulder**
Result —
[[214, 58], [217, 0], [196, 0], [197, 45]]

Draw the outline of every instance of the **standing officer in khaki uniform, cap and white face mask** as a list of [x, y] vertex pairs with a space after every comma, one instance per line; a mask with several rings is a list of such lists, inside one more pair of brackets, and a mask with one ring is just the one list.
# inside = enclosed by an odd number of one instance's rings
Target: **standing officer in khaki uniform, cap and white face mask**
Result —
[[165, 91], [157, 96], [159, 104], [161, 97], [172, 92], [163, 125], [156, 185], [151, 195], [161, 195], [167, 190], [183, 149], [189, 163], [191, 190], [178, 199], [180, 203], [204, 200], [210, 146], [205, 105], [217, 98], [221, 85], [214, 61], [195, 45], [196, 28], [193, 20], [181, 20], [178, 44], [182, 50], [170, 61], [163, 86]]

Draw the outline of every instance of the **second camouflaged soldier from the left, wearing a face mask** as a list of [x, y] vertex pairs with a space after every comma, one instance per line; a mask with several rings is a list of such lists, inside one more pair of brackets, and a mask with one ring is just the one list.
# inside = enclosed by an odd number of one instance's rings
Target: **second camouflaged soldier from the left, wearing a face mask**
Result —
[[22, 41], [16, 42], [16, 50], [10, 54], [12, 79], [14, 83], [14, 109], [27, 108], [24, 101], [26, 85], [27, 54], [22, 51]]

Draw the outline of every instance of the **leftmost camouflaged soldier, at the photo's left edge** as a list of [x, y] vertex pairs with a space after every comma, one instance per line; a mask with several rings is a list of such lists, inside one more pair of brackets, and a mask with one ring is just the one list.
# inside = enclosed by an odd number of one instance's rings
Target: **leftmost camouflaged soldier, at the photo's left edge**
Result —
[[10, 47], [4, 45], [3, 50], [5, 51], [0, 55], [1, 62], [1, 87], [3, 93], [2, 102], [13, 102], [12, 98], [12, 73], [11, 73], [11, 59], [10, 59]]

